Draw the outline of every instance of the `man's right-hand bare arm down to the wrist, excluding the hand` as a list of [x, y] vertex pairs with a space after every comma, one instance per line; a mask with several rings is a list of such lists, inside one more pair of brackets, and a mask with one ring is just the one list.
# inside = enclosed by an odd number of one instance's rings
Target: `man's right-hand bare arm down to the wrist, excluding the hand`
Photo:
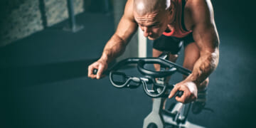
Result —
[[186, 6], [191, 14], [190, 27], [200, 50], [200, 58], [185, 81], [195, 82], [199, 86], [218, 65], [219, 38], [210, 0], [188, 0]]

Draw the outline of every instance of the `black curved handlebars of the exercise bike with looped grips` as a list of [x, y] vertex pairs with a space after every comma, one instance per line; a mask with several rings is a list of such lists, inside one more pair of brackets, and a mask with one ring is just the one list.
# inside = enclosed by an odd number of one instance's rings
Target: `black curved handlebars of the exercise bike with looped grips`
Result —
[[[124, 65], [129, 64], [137, 64], [137, 68], [140, 73], [145, 75], [144, 78], [137, 78], [128, 76], [124, 73], [117, 72]], [[146, 64], [159, 64], [168, 68], [168, 70], [164, 71], [154, 71], [144, 68]], [[169, 75], [172, 75], [176, 72], [181, 73], [183, 75], [191, 74], [191, 71], [177, 65], [175, 63], [171, 63], [169, 60], [165, 60], [163, 58], [127, 58], [121, 60], [119, 63], [116, 63], [112, 68], [105, 71], [105, 74], [110, 72], [110, 82], [114, 87], [122, 88], [122, 87], [129, 87], [129, 88], [136, 88], [139, 85], [143, 85], [143, 90], [146, 95], [150, 97], [167, 97], [166, 90], [171, 90], [174, 85], [163, 85], [156, 82], [155, 78], [164, 78]], [[97, 74], [97, 69], [93, 70], [93, 74]], [[122, 78], [121, 81], [114, 80], [114, 75], [117, 75]], [[154, 84], [153, 89], [149, 89], [147, 85]], [[159, 89], [160, 88], [160, 89]], [[178, 91], [176, 96], [181, 97], [183, 95], [183, 91]]]

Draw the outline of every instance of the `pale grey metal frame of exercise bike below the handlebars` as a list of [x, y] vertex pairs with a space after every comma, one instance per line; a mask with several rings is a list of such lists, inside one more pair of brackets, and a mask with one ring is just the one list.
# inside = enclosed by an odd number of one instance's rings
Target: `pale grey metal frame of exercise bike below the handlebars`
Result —
[[[165, 60], [169, 59], [168, 53], [163, 53], [159, 56], [159, 58], [163, 58]], [[160, 70], [166, 70], [165, 67], [160, 67]], [[165, 85], [166, 78], [158, 78], [156, 81], [158, 84]], [[177, 102], [174, 108], [171, 111], [163, 110], [164, 102], [166, 98], [156, 97], [153, 98], [152, 111], [149, 115], [144, 119], [143, 128], [164, 128], [167, 126], [172, 127], [193, 127], [193, 128], [201, 128], [201, 126], [192, 124], [187, 121], [188, 112], [191, 107], [191, 103], [185, 105], [181, 102]], [[186, 108], [187, 107], [187, 108]]]

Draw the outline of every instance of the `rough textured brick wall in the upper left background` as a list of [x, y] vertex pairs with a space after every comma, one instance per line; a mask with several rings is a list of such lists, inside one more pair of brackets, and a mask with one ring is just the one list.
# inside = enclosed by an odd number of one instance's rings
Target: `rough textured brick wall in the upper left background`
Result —
[[[41, 2], [41, 3], [40, 3]], [[83, 9], [83, 0], [73, 0], [75, 14]], [[45, 14], [40, 9], [44, 6]], [[6, 46], [18, 39], [43, 30], [68, 18], [66, 0], [1, 0], [0, 1], [0, 46]]]

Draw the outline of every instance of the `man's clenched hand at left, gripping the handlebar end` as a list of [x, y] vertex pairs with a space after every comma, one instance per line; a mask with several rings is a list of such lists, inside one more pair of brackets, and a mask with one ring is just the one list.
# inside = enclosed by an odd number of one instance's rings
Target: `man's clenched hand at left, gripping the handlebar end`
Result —
[[[97, 74], [93, 74], [93, 70], [97, 69]], [[100, 79], [105, 75], [102, 75], [103, 71], [107, 69], [107, 62], [105, 60], [97, 60], [88, 67], [88, 77], [92, 79]]]

